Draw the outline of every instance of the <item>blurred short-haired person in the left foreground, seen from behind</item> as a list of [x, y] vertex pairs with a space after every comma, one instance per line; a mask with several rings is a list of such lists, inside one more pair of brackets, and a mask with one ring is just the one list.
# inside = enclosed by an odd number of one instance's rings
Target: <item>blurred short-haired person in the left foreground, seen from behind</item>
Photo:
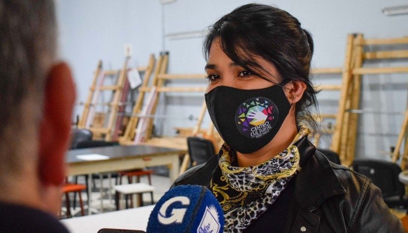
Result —
[[58, 221], [75, 88], [56, 61], [53, 1], [0, 0], [0, 232]]

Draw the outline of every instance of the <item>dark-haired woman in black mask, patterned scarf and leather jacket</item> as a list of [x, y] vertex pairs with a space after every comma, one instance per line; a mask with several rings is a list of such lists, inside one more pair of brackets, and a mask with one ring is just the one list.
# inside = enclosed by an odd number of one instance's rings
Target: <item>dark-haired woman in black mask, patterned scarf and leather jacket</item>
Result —
[[224, 232], [404, 232], [377, 187], [308, 141], [313, 40], [295, 17], [244, 5], [210, 28], [204, 49], [206, 102], [225, 144], [174, 185], [207, 186]]

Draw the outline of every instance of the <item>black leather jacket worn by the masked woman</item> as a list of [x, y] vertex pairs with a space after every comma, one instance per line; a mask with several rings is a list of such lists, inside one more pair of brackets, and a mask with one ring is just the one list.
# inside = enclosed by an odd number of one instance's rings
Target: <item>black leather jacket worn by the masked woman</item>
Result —
[[[287, 219], [294, 224], [288, 232], [405, 232], [369, 179], [329, 162], [311, 143], [303, 145], [300, 154], [311, 156], [294, 178], [294, 202], [299, 211], [289, 212]], [[183, 173], [173, 186], [209, 187], [216, 166], [217, 156]], [[269, 222], [268, 218], [262, 221]]]

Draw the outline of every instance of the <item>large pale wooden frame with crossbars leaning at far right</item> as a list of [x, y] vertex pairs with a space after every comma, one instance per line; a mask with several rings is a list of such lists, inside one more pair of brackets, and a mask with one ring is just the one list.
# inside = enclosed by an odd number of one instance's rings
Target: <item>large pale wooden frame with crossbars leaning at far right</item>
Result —
[[[340, 154], [340, 159], [346, 166], [352, 163], [355, 154], [358, 123], [358, 114], [355, 110], [359, 109], [362, 75], [408, 72], [408, 66], [363, 67], [364, 62], [368, 60], [408, 58], [408, 50], [365, 52], [364, 47], [400, 44], [408, 44], [408, 38], [364, 39], [362, 34], [348, 36], [339, 112], [336, 118], [333, 142], [330, 147], [331, 150]], [[404, 128], [402, 130], [405, 131]], [[398, 150], [403, 138], [402, 134], [405, 133], [401, 132], [394, 150], [394, 162], [398, 159]]]

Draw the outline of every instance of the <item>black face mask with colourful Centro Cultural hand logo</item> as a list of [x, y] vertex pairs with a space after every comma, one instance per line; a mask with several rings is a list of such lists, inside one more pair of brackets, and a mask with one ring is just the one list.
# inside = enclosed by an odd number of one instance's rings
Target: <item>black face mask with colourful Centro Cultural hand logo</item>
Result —
[[242, 90], [218, 86], [205, 94], [208, 113], [224, 142], [241, 153], [267, 145], [281, 128], [291, 104], [283, 86]]

